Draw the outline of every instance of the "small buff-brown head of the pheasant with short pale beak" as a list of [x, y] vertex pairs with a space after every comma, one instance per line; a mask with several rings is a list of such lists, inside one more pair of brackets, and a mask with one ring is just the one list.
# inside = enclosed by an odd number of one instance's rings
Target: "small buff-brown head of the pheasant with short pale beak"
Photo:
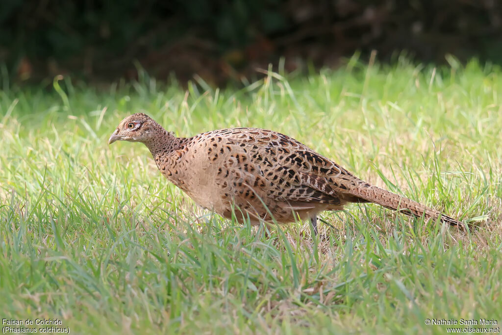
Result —
[[159, 125], [148, 115], [136, 113], [123, 119], [111, 134], [108, 144], [115, 141], [148, 142], [158, 130]]

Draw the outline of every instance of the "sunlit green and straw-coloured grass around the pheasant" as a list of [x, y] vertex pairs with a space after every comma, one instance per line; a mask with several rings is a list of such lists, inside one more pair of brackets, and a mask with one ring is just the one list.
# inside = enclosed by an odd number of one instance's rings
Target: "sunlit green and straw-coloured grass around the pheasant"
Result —
[[[0, 92], [0, 318], [72, 333], [445, 333], [502, 322], [502, 70], [353, 58], [244, 89], [133, 84]], [[144, 110], [179, 136], [274, 129], [376, 185], [483, 227], [469, 236], [373, 205], [264, 234], [198, 208], [140, 144]], [[5, 324], [3, 324], [5, 326]], [[479, 327], [479, 325], [478, 325]]]

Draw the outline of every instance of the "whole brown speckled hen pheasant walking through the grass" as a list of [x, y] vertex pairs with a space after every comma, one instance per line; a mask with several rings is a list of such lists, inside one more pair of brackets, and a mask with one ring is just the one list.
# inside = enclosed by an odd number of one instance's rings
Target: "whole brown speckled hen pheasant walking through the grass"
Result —
[[143, 113], [123, 119], [108, 144], [144, 143], [160, 172], [197, 204], [239, 222], [285, 223], [340, 210], [347, 202], [374, 202], [407, 215], [465, 229], [463, 222], [371, 185], [289, 136], [258, 128], [231, 128], [177, 138]]

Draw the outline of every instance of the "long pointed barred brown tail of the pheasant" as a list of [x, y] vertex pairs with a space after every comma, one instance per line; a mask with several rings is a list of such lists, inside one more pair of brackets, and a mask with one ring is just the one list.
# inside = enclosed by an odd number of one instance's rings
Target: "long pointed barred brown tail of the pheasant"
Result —
[[432, 219], [437, 219], [439, 217], [442, 222], [465, 231], [465, 224], [463, 222], [442, 214], [440, 211], [383, 188], [369, 184], [365, 184], [365, 186], [366, 187], [355, 187], [350, 190], [350, 193], [358, 198], [378, 203], [386, 208], [400, 210], [407, 215], [414, 215], [417, 217], [424, 215], [425, 218]]

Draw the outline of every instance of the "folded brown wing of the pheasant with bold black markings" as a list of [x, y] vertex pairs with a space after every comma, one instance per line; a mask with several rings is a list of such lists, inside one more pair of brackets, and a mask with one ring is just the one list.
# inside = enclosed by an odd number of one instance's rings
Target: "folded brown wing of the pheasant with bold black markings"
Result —
[[240, 192], [246, 185], [250, 193], [287, 202], [292, 209], [311, 208], [314, 203], [337, 206], [354, 201], [344, 195], [343, 184], [359, 179], [302, 143], [261, 129], [225, 131], [221, 135], [222, 153], [228, 153], [222, 167], [222, 175], [227, 177], [222, 182], [226, 186], [231, 180], [235, 184], [230, 187]]

